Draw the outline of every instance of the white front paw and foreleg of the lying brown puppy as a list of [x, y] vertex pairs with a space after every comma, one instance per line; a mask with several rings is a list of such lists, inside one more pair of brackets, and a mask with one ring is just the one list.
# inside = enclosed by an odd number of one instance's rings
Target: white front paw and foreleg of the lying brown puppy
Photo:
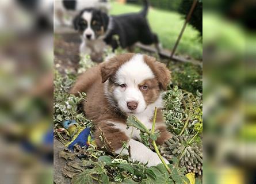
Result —
[[[143, 164], [148, 162], [148, 167], [156, 166], [159, 163], [162, 163], [155, 152], [148, 149], [144, 144], [140, 143], [139, 141], [131, 139], [128, 145], [131, 147], [130, 153], [132, 160], [137, 160], [139, 162], [142, 162]], [[118, 150], [116, 150], [116, 154], [120, 154], [121, 150], [123, 150], [123, 148], [119, 148]], [[121, 155], [128, 155], [128, 151], [124, 149], [121, 152]], [[163, 159], [166, 163], [169, 163], [165, 158]]]

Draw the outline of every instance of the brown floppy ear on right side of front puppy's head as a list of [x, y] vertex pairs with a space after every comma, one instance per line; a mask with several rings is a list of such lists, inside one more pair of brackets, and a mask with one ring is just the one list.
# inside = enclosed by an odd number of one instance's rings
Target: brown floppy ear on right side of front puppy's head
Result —
[[171, 81], [171, 72], [166, 65], [156, 61], [155, 57], [147, 55], [144, 55], [144, 62], [148, 64], [156, 76], [156, 79], [158, 79], [159, 87], [162, 90], [167, 90], [167, 86]]

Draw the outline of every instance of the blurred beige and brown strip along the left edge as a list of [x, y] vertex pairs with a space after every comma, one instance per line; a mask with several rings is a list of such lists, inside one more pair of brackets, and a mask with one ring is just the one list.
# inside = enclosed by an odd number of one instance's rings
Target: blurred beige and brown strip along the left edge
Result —
[[0, 2], [0, 183], [53, 183], [53, 7]]

